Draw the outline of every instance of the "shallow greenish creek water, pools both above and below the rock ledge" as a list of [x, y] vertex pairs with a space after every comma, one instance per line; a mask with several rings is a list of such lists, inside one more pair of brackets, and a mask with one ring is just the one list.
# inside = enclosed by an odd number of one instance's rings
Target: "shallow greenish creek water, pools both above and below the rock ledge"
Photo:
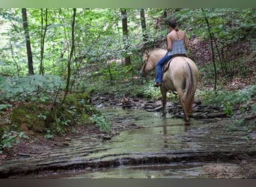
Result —
[[[80, 168], [72, 171], [42, 172], [27, 177], [39, 178], [197, 178], [201, 177], [202, 163], [169, 162], [165, 155], [173, 150], [190, 150], [197, 144], [186, 144], [176, 136], [187, 128], [199, 126], [201, 121], [192, 120], [184, 126], [182, 119], [167, 116], [162, 119], [159, 112], [140, 109], [101, 108], [112, 123], [122, 126], [130, 124], [136, 129], [120, 132], [109, 141], [98, 145], [101, 151], [85, 158], [94, 162], [112, 162], [107, 168]], [[168, 156], [167, 156], [168, 157]], [[144, 159], [145, 158], [145, 159]], [[151, 159], [152, 158], [152, 159]], [[133, 162], [127, 162], [133, 159]], [[165, 161], [166, 159], [166, 161]], [[144, 162], [145, 160], [145, 162]], [[114, 162], [115, 161], [115, 162]], [[118, 162], [118, 164], [117, 164]], [[127, 164], [128, 163], [128, 164]]]

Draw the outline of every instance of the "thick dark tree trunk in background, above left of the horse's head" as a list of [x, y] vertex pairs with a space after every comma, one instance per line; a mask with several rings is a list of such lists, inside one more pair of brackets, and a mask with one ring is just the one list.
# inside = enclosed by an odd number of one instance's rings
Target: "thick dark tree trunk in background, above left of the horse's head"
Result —
[[[127, 9], [121, 9], [121, 17], [122, 17], [122, 27], [123, 27], [123, 35], [124, 35], [124, 43], [125, 50], [127, 52], [128, 49], [128, 24], [127, 24]], [[125, 65], [129, 66], [131, 64], [131, 58], [129, 55], [125, 55]]]

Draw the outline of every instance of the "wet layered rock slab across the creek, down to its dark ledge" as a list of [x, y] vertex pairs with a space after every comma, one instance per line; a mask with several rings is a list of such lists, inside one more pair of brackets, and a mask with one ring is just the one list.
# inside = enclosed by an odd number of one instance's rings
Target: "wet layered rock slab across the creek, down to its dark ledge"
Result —
[[[144, 119], [147, 119], [152, 113], [145, 111], [144, 115]], [[145, 126], [140, 125], [143, 118], [137, 121], [138, 124], [135, 120], [127, 124], [135, 126], [135, 129], [121, 132], [110, 140], [99, 138], [100, 136], [73, 137], [58, 142], [53, 147], [46, 147], [40, 153], [19, 153], [15, 159], [1, 163], [0, 177], [76, 168], [113, 168], [121, 165], [237, 162], [256, 156], [255, 131], [228, 132], [228, 120], [219, 120], [218, 123], [195, 120], [192, 126], [184, 126], [182, 120], [162, 125], [162, 120], [155, 118], [152, 117], [156, 123], [145, 122]], [[146, 141], [141, 142], [145, 139]], [[158, 141], [163, 143], [158, 144]], [[255, 166], [253, 167], [252, 171], [256, 171]]]

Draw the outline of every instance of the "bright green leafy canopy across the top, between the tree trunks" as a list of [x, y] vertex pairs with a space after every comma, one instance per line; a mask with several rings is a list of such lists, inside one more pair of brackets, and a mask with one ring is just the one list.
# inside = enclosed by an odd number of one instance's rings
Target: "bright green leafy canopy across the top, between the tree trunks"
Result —
[[[28, 25], [31, 35], [31, 46], [34, 57], [35, 72], [39, 72], [41, 36], [46, 26], [46, 38], [43, 53], [43, 70], [45, 73], [57, 76], [66, 76], [66, 61], [70, 52], [70, 25], [72, 17], [71, 8], [62, 9], [32, 9], [28, 8]], [[42, 12], [41, 12], [42, 11]], [[162, 40], [166, 34], [165, 21], [170, 18], [177, 19], [180, 28], [187, 31], [190, 38], [197, 37], [201, 40], [209, 40], [204, 13], [210, 21], [210, 28], [219, 43], [222, 64], [221, 70], [225, 73], [233, 73], [234, 55], [243, 55], [248, 50], [240, 47], [244, 40], [255, 40], [255, 18], [254, 8], [205, 8], [201, 9], [144, 9], [147, 28], [141, 31], [139, 19], [140, 9], [127, 9], [129, 18], [129, 38], [123, 40], [121, 13], [118, 8], [91, 8], [77, 9], [75, 45], [76, 60], [73, 61], [72, 71], [82, 65], [100, 64], [103, 70], [98, 73], [106, 74], [107, 79], [116, 79], [118, 70], [109, 68], [104, 62], [112, 59], [124, 58], [131, 55], [132, 58], [140, 52], [141, 44], [154, 43]], [[153, 18], [161, 18], [164, 12], [167, 17], [162, 20], [162, 25], [156, 29]], [[43, 28], [41, 13], [43, 13]], [[4, 46], [0, 48], [0, 70], [1, 73], [10, 76], [24, 76], [27, 69], [25, 54], [25, 42], [22, 31], [22, 19], [20, 9], [1, 10], [1, 20], [6, 22], [4, 30], [1, 30]], [[147, 35], [147, 41], [142, 38], [142, 33]], [[128, 47], [127, 47], [128, 46]], [[233, 46], [231, 50], [231, 46]], [[234, 46], [237, 46], [234, 47]], [[252, 45], [252, 48], [255, 45]], [[217, 46], [216, 46], [217, 47]], [[246, 51], [245, 51], [246, 50]], [[234, 54], [236, 53], [236, 54]], [[236, 61], [235, 61], [236, 62]], [[132, 62], [133, 63], [133, 62]], [[137, 63], [137, 61], [134, 61]], [[112, 70], [112, 71], [110, 71]], [[96, 74], [94, 74], [96, 76]], [[76, 75], [73, 75], [76, 76]], [[75, 78], [75, 77], [73, 77]]]

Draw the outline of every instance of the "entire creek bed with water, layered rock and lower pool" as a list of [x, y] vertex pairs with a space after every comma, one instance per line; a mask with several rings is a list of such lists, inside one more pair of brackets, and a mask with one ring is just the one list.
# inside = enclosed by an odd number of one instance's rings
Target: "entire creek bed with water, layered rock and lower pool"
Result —
[[227, 133], [222, 123], [192, 119], [190, 126], [185, 126], [182, 119], [171, 115], [163, 120], [160, 112], [112, 107], [100, 110], [112, 120], [112, 138], [70, 138], [65, 146], [52, 147], [33, 158], [7, 160], [0, 165], [0, 176], [243, 178], [246, 168], [238, 161], [245, 155], [255, 156], [255, 143], [245, 138], [248, 134]]

